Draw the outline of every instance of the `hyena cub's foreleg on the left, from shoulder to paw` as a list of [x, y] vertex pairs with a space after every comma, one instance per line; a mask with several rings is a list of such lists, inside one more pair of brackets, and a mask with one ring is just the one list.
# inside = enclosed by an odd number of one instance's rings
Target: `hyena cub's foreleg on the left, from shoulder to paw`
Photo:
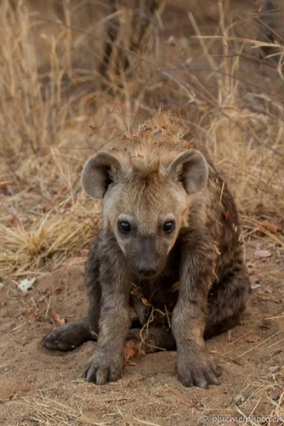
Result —
[[124, 253], [109, 231], [104, 234], [99, 267], [102, 302], [99, 339], [85, 369], [87, 381], [104, 385], [119, 379], [124, 367], [124, 344], [131, 325], [131, 275]]

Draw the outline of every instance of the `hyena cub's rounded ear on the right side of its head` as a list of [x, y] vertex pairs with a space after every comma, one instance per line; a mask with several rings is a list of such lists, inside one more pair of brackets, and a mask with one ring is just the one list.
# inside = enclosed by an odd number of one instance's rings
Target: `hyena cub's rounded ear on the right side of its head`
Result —
[[178, 155], [168, 168], [168, 175], [182, 182], [187, 194], [203, 190], [208, 179], [208, 165], [200, 151], [190, 149]]

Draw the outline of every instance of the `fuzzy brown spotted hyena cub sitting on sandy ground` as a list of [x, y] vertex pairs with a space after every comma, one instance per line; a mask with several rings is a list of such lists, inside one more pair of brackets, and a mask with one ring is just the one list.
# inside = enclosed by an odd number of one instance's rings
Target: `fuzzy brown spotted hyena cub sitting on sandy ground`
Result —
[[234, 200], [204, 148], [181, 121], [160, 114], [89, 158], [82, 185], [103, 200], [86, 266], [89, 312], [50, 332], [45, 346], [68, 351], [98, 334], [86, 380], [116, 381], [135, 332], [136, 285], [153, 307], [170, 312], [170, 328], [155, 324], [148, 339], [177, 349], [182, 384], [217, 384], [204, 338], [238, 324], [250, 284]]

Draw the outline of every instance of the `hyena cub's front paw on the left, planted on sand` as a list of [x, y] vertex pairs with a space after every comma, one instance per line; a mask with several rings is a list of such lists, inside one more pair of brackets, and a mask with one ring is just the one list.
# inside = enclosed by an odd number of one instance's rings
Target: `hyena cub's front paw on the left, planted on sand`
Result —
[[86, 381], [96, 385], [104, 385], [107, 382], [121, 378], [124, 368], [124, 354], [116, 354], [115, 351], [97, 349], [89, 359], [84, 370]]

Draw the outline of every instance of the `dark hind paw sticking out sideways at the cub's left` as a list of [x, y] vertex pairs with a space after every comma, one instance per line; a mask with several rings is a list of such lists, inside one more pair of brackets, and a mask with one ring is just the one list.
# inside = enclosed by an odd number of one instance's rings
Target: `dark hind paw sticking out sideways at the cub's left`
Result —
[[76, 346], [94, 338], [92, 336], [89, 322], [79, 320], [53, 329], [43, 338], [43, 344], [53, 351], [71, 351]]

